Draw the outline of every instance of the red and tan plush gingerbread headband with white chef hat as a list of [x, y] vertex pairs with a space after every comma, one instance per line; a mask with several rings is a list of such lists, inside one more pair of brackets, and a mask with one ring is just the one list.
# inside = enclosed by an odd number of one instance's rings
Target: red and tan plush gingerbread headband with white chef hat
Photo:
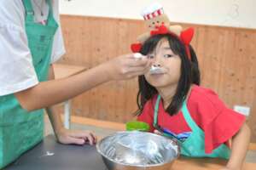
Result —
[[137, 37], [137, 43], [131, 44], [131, 51], [133, 53], [137, 53], [140, 51], [143, 43], [148, 39], [148, 37], [157, 34], [170, 33], [178, 37], [180, 41], [183, 42], [190, 59], [189, 43], [191, 42], [194, 35], [193, 28], [183, 30], [182, 26], [172, 26], [167, 15], [164, 13], [163, 7], [159, 3], [154, 3], [148, 8], [145, 8], [142, 15], [145, 20], [146, 26], [148, 27], [148, 31]]

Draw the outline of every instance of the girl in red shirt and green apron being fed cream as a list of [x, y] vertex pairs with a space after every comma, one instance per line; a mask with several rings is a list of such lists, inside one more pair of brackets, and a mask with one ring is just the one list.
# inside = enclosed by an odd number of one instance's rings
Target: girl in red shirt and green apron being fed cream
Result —
[[245, 116], [200, 86], [193, 48], [172, 32], [161, 32], [143, 42], [140, 53], [160, 72], [138, 78], [137, 120], [147, 122], [151, 132], [177, 139], [183, 156], [222, 157], [229, 159], [225, 169], [241, 169], [250, 139]]

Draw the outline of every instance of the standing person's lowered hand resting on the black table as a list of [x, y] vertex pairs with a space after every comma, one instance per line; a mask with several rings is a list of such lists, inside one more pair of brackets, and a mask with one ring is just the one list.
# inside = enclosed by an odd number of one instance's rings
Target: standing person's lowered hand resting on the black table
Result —
[[84, 130], [69, 130], [62, 128], [59, 132], [55, 133], [58, 142], [61, 144], [96, 144], [96, 136]]

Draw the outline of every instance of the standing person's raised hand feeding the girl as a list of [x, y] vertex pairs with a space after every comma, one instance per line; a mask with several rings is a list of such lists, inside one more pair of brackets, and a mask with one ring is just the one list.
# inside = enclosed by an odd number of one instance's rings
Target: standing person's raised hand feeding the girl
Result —
[[151, 62], [146, 56], [137, 59], [134, 54], [126, 54], [109, 60], [105, 66], [111, 80], [124, 80], [145, 74]]

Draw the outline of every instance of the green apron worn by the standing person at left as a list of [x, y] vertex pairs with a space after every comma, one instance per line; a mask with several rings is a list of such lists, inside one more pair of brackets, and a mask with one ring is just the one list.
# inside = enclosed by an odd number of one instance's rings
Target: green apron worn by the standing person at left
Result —
[[[39, 82], [48, 78], [52, 44], [58, 27], [53, 17], [51, 0], [47, 25], [34, 23], [31, 0], [24, 0], [26, 35]], [[12, 66], [12, 65], [8, 65]], [[38, 96], [40, 99], [40, 96]], [[43, 139], [44, 110], [27, 112], [14, 94], [0, 97], [0, 168], [5, 167]]]

